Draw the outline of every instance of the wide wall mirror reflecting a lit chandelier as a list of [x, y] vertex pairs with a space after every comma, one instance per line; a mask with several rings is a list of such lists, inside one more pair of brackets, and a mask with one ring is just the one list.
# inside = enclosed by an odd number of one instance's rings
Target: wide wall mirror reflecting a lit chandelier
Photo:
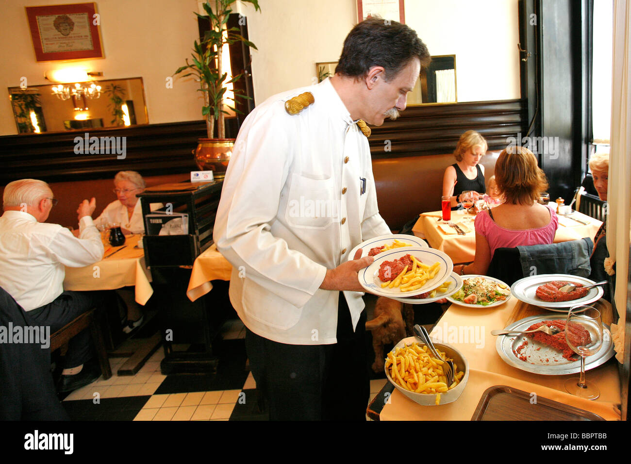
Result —
[[9, 99], [18, 134], [149, 124], [143, 78], [9, 87]]

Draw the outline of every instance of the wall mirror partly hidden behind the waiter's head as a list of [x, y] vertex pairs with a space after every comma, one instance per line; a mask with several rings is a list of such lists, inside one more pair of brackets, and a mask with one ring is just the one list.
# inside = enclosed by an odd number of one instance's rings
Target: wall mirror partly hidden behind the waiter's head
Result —
[[[315, 63], [318, 81], [333, 76], [337, 61]], [[408, 93], [408, 106], [457, 103], [456, 55], [432, 56], [427, 69], [422, 69], [412, 92]]]

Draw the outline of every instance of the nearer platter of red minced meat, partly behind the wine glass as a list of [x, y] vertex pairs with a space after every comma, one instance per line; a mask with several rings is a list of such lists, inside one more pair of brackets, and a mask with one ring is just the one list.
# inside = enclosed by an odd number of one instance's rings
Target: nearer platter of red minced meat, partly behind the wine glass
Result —
[[[565, 326], [566, 319], [565, 316], [559, 318], [557, 314], [537, 314], [510, 324], [506, 330], [528, 330], [531, 326], [536, 328], [536, 324], [544, 322], [548, 326], [561, 327]], [[550, 323], [549, 321], [554, 322]], [[557, 321], [559, 322], [557, 323]], [[531, 335], [536, 335], [537, 340], [531, 338]], [[589, 335], [590, 337], [593, 336], [591, 332]], [[565, 342], [565, 331], [560, 331], [552, 336], [543, 332], [499, 335], [495, 342], [495, 348], [506, 364], [517, 367], [517, 369], [522, 371], [545, 376], [560, 376], [581, 372], [581, 358], [579, 355], [569, 356], [571, 348], [567, 347], [567, 342]], [[596, 354], [585, 358], [585, 370], [587, 371], [604, 364], [614, 354], [610, 328], [603, 324], [603, 344]], [[567, 357], [564, 357], [564, 355]]]

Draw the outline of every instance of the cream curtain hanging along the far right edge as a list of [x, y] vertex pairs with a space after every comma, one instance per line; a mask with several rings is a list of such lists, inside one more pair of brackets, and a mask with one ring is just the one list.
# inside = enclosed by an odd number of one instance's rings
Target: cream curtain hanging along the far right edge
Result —
[[[609, 155], [609, 215], [607, 248], [616, 263], [616, 359], [622, 357], [627, 311], [629, 230], [631, 216], [631, 4], [615, 0], [613, 4], [613, 63], [611, 89], [611, 151]], [[617, 330], [620, 330], [618, 332]]]

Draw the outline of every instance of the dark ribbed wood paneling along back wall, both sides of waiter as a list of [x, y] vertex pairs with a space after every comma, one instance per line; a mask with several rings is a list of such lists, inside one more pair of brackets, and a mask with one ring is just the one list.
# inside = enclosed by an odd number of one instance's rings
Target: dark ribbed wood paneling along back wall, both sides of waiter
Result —
[[[374, 158], [451, 153], [468, 129], [480, 132], [489, 149], [497, 150], [507, 145], [509, 136], [524, 131], [525, 117], [522, 100], [410, 107], [396, 121], [372, 128], [370, 152]], [[236, 136], [236, 124], [227, 126], [228, 136]], [[126, 137], [126, 158], [121, 160], [115, 153], [75, 154], [74, 138], [83, 136], [83, 131], [4, 136], [0, 137], [0, 184], [25, 177], [47, 182], [112, 179], [120, 170], [137, 170], [144, 176], [185, 173], [197, 169], [191, 150], [205, 133], [203, 121], [90, 131], [90, 136]]]

